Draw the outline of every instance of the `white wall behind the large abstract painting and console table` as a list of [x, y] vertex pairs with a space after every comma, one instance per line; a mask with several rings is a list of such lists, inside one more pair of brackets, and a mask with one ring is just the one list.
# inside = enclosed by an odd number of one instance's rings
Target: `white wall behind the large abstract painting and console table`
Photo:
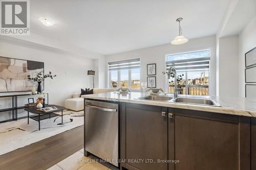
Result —
[[[87, 75], [87, 70], [94, 69], [94, 66], [93, 59], [87, 58], [89, 56], [77, 57], [44, 46], [3, 39], [0, 41], [0, 56], [44, 62], [45, 72], [52, 71], [57, 75], [53, 80], [45, 80], [45, 92], [49, 93], [50, 104], [63, 106], [65, 99], [71, 98], [74, 92], [92, 86], [92, 77]], [[25, 103], [27, 100], [19, 101], [20, 105]], [[3, 104], [5, 106], [2, 107], [11, 107], [9, 101], [1, 100], [0, 105]]]

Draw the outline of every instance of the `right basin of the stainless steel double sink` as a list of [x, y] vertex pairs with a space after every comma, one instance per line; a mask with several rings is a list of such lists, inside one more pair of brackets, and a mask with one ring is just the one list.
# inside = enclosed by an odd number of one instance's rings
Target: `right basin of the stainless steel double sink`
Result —
[[173, 102], [177, 103], [187, 103], [187, 104], [195, 104], [195, 105], [207, 105], [207, 106], [220, 106], [215, 101], [206, 98], [176, 98]]

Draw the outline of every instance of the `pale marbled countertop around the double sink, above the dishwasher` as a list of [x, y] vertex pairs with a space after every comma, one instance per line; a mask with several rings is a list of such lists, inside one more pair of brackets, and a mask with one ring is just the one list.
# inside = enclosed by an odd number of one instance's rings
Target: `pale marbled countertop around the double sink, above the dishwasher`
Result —
[[[89, 94], [83, 95], [83, 98], [86, 99], [98, 99], [105, 101], [115, 101], [115, 102], [127, 102], [135, 104], [144, 104], [144, 105], [154, 105], [154, 106], [163, 106], [163, 107], [172, 107], [179, 109], [190, 109], [198, 111], [207, 111], [215, 113], [224, 113], [232, 115], [241, 115], [256, 117], [256, 99], [252, 98], [219, 98], [218, 96], [196, 96], [197, 98], [209, 98], [218, 103], [221, 107], [216, 106], [204, 106], [204, 105], [194, 105], [194, 104], [182, 104], [175, 102], [162, 102], [162, 101], [151, 101], [151, 100], [137, 100], [143, 96], [143, 93], [140, 92], [131, 92], [128, 94], [119, 94], [119, 93], [98, 93], [98, 94]], [[188, 97], [189, 95], [179, 95]]]

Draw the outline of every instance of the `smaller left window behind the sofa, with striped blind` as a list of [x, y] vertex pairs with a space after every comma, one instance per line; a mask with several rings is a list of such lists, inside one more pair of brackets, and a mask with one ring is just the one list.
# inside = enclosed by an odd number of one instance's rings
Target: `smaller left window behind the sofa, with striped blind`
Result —
[[140, 59], [109, 62], [109, 87], [118, 82], [118, 87], [140, 89]]

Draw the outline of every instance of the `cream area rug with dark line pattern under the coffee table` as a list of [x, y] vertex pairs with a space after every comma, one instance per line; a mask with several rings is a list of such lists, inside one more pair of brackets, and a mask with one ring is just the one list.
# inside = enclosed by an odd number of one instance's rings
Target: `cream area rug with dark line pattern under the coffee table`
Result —
[[[61, 112], [55, 113], [61, 115]], [[57, 116], [41, 120], [40, 131], [38, 122], [31, 118], [29, 125], [27, 118], [0, 124], [0, 155], [83, 125], [83, 111], [64, 110], [63, 124], [58, 125], [60, 123], [61, 117]]]

